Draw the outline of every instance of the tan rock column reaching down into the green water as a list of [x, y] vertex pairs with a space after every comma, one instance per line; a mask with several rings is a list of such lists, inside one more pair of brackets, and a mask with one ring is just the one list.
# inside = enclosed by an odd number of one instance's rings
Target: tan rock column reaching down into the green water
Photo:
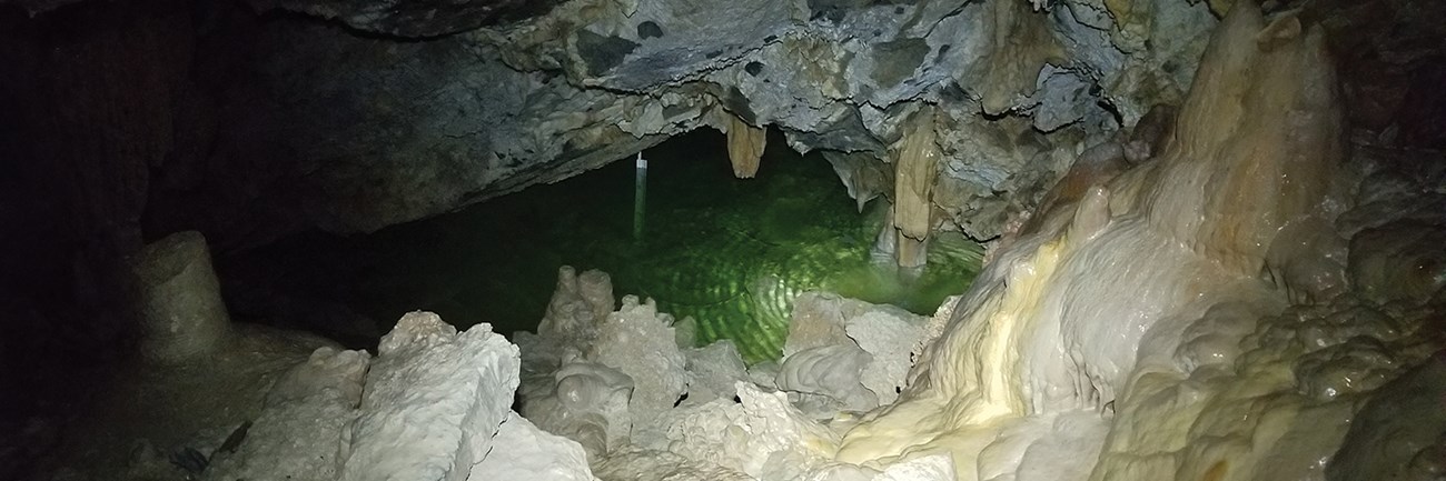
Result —
[[925, 107], [914, 114], [891, 153], [894, 155], [894, 227], [898, 228], [898, 263], [902, 267], [924, 264], [924, 241], [928, 238], [930, 198], [938, 176], [937, 133], [934, 110]]

